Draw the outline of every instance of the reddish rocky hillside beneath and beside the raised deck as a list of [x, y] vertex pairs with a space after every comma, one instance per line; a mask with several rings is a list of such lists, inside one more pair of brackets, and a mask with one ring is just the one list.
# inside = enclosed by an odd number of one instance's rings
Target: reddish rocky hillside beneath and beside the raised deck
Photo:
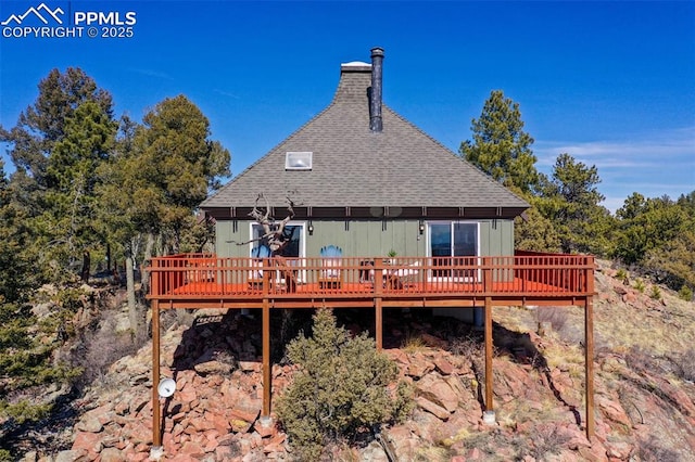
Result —
[[[492, 425], [482, 422], [481, 333], [422, 311], [388, 311], [384, 348], [413, 382], [416, 409], [404, 424], [383, 428], [378, 440], [336, 445], [329, 459], [695, 460], [694, 304], [665, 290], [652, 297], [656, 292], [648, 284], [642, 292], [617, 275], [605, 262], [596, 273], [596, 436], [591, 441], [582, 426], [583, 310], [495, 308], [497, 419]], [[374, 319], [361, 318], [364, 313], [342, 311], [339, 319], [353, 331], [372, 325]], [[177, 392], [162, 402], [161, 460], [291, 460], [281, 429], [258, 422], [258, 319], [238, 312], [195, 316], [186, 325], [174, 323], [162, 338], [162, 363], [168, 364], [162, 373], [176, 380]], [[298, 331], [307, 319], [298, 316], [274, 325]], [[278, 359], [276, 339], [283, 334], [274, 336]], [[80, 418], [71, 450], [50, 455], [36, 448], [23, 460], [147, 460], [150, 364], [150, 345], [116, 361], [76, 403]], [[276, 360], [276, 393], [292, 373], [291, 365]]]

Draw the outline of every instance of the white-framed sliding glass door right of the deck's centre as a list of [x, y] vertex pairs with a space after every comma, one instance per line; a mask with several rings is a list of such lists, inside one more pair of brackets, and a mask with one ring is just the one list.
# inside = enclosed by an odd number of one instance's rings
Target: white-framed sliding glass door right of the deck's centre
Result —
[[[475, 221], [428, 222], [428, 252], [434, 266], [473, 265], [480, 255], [479, 223]], [[441, 258], [438, 258], [441, 257]], [[464, 257], [457, 259], [455, 257]], [[433, 278], [470, 278], [472, 270], [433, 270]]]

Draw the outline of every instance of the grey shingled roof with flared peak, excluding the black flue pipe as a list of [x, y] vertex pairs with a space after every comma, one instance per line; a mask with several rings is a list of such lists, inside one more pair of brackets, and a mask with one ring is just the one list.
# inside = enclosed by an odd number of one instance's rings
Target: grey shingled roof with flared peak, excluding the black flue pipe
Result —
[[[289, 196], [301, 208], [295, 207], [299, 217], [408, 215], [403, 210], [421, 217], [514, 217], [529, 207], [386, 105], [382, 131], [371, 131], [370, 87], [370, 64], [343, 64], [330, 105], [201, 208], [216, 218], [242, 218], [260, 193], [278, 208]], [[287, 152], [312, 152], [312, 169], [286, 170]]]

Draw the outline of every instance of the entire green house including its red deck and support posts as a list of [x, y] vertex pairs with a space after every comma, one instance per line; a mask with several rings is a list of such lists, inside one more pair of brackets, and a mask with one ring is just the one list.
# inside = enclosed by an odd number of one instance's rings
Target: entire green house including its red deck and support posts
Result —
[[[269, 419], [271, 310], [374, 309], [381, 348], [384, 309], [471, 319], [482, 307], [483, 418], [494, 422], [493, 307], [580, 306], [591, 437], [593, 257], [515, 249], [514, 218], [529, 204], [383, 105], [383, 50], [372, 49], [371, 60], [343, 64], [328, 107], [201, 204], [216, 222], [216, 255], [150, 261], [152, 383], [160, 382], [159, 320], [166, 309], [262, 313], [262, 418]], [[290, 203], [289, 243], [268, 258], [271, 243], [261, 239], [262, 226], [250, 214], [260, 206], [281, 220]], [[320, 257], [328, 247], [341, 249], [331, 265]], [[363, 264], [372, 268], [367, 279]], [[152, 393], [156, 447], [161, 409]]]

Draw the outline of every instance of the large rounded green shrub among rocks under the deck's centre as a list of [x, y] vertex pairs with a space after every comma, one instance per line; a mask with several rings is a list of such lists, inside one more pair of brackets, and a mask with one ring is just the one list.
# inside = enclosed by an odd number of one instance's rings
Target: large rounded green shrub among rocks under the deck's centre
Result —
[[351, 337], [328, 309], [314, 315], [311, 338], [300, 334], [290, 343], [288, 358], [301, 369], [276, 411], [301, 460], [317, 460], [329, 442], [409, 413], [408, 387], [389, 390], [395, 363], [366, 334]]

